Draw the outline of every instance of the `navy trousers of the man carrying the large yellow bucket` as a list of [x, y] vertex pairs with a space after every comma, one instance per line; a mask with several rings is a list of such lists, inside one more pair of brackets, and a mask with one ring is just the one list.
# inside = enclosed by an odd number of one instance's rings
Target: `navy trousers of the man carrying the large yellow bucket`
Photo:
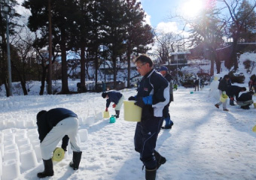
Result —
[[142, 118], [136, 125], [134, 136], [135, 150], [140, 154], [140, 160], [147, 169], [155, 169], [157, 161], [154, 157], [154, 148], [157, 143], [157, 136], [163, 124], [162, 117]]

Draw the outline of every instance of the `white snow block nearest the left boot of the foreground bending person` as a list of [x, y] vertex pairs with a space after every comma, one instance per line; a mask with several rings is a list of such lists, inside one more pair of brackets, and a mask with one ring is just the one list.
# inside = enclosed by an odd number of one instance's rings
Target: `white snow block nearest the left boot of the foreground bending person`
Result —
[[24, 151], [20, 154], [21, 168], [23, 170], [31, 169], [37, 166], [38, 160], [34, 150]]

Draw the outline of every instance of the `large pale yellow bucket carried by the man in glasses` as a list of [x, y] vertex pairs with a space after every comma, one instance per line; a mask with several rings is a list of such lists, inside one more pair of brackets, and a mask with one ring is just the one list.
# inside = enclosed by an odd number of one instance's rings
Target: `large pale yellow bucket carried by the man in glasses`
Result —
[[142, 108], [136, 106], [136, 101], [123, 101], [123, 114], [125, 121], [141, 121]]

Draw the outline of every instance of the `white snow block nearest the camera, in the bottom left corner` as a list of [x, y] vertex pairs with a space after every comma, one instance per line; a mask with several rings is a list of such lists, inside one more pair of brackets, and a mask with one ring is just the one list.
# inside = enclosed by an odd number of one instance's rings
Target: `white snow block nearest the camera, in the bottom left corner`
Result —
[[2, 180], [13, 180], [20, 176], [20, 162], [17, 160], [6, 160], [2, 163]]

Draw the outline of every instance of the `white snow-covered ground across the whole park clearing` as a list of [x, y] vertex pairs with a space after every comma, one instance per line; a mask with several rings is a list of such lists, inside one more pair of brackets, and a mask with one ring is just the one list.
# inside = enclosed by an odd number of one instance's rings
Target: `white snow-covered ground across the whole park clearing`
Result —
[[[256, 59], [255, 54], [241, 55]], [[209, 67], [208, 67], [209, 68]], [[224, 70], [224, 68], [223, 68]], [[193, 71], [193, 70], [192, 70]], [[255, 74], [256, 70], [252, 74]], [[197, 73], [197, 69], [194, 69]], [[223, 77], [227, 71], [219, 74]], [[157, 180], [190, 179], [256, 179], [256, 109], [230, 107], [229, 112], [217, 109], [216, 85], [205, 86], [200, 92], [178, 87], [169, 110], [174, 126], [161, 130], [157, 151], [166, 163], [157, 170]], [[78, 114], [80, 146], [83, 151], [77, 171], [69, 167], [72, 150], [65, 158], [53, 163], [54, 176], [45, 179], [135, 180], [145, 179], [139, 154], [134, 150], [136, 122], [123, 120], [123, 109], [115, 123], [102, 118], [105, 100], [101, 93], [78, 95], [38, 95], [40, 83], [34, 83], [28, 96], [6, 98], [0, 94], [0, 179], [38, 179], [43, 171], [35, 116], [40, 110], [65, 107]], [[75, 89], [76, 82], [69, 82]], [[120, 91], [125, 98], [136, 95], [135, 89]], [[253, 97], [256, 102], [256, 96]], [[109, 108], [114, 114], [114, 109]], [[59, 144], [60, 145], [60, 144]]]

